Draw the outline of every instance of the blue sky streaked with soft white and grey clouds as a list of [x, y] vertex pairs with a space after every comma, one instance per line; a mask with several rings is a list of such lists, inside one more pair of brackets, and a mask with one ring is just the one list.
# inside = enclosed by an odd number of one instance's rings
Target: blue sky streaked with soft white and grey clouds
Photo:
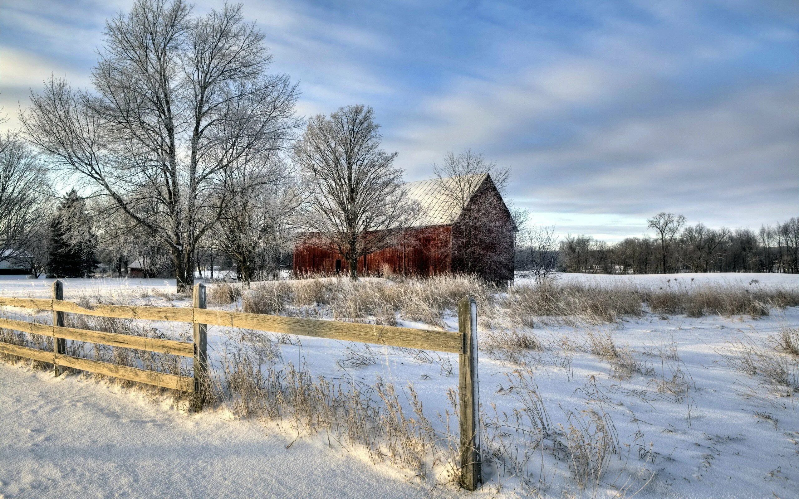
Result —
[[[0, 105], [50, 73], [89, 85], [131, 2], [0, 0]], [[196, 2], [197, 12], [221, 2]], [[539, 224], [607, 240], [678, 212], [799, 215], [799, 2], [245, 0], [300, 113], [371, 105], [407, 180], [449, 149], [511, 167]]]

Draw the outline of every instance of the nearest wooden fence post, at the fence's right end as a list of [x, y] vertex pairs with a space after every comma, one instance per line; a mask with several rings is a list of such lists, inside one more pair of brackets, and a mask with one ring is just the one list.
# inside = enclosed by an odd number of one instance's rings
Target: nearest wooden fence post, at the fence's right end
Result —
[[477, 373], [477, 303], [466, 296], [458, 303], [458, 328], [463, 354], [458, 356], [460, 390], [460, 486], [475, 490], [483, 481], [479, 442], [479, 379]]

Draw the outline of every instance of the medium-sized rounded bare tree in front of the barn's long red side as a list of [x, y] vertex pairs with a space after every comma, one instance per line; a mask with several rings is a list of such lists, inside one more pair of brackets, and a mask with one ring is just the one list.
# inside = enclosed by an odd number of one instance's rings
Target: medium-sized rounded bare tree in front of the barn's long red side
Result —
[[294, 149], [303, 184], [305, 239], [340, 253], [357, 279], [358, 259], [396, 242], [419, 216], [407, 199], [396, 152], [380, 149], [380, 125], [363, 105], [312, 117]]

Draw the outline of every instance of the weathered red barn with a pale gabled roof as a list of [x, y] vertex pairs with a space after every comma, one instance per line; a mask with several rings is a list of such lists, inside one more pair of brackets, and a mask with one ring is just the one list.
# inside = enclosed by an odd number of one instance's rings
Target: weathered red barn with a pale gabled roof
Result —
[[[405, 185], [422, 216], [396, 228], [395, 244], [359, 259], [359, 275], [435, 275], [469, 272], [513, 279], [515, 223], [491, 176], [421, 180]], [[348, 262], [336, 251], [300, 238], [294, 273], [340, 274]]]

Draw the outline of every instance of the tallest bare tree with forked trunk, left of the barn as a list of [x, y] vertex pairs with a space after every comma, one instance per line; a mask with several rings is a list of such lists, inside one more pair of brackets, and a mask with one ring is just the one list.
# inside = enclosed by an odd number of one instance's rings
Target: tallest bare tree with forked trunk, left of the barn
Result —
[[296, 86], [266, 73], [264, 37], [240, 10], [192, 17], [182, 0], [137, 0], [106, 22], [93, 92], [51, 79], [21, 113], [54, 166], [169, 248], [179, 291], [193, 283], [195, 247], [221, 216], [230, 169], [283, 148], [299, 125]]

